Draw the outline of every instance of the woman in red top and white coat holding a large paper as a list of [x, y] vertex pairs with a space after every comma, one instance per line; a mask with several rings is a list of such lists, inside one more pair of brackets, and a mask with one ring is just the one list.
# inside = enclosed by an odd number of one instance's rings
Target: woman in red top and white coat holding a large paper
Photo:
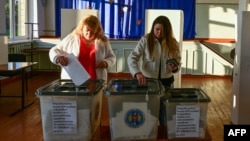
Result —
[[[90, 74], [90, 79], [102, 79], [107, 82], [107, 68], [116, 62], [108, 38], [96, 16], [82, 19], [77, 27], [60, 43], [49, 51], [51, 62], [67, 66], [68, 54], [73, 54]], [[61, 79], [71, 79], [62, 68]]]

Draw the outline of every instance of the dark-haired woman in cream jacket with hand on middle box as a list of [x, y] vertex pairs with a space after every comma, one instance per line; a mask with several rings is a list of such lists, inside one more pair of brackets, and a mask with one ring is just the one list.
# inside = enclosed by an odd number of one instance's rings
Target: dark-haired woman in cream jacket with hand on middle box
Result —
[[[158, 16], [153, 21], [150, 33], [141, 37], [127, 61], [131, 75], [137, 78], [140, 85], [145, 85], [147, 79], [158, 79], [167, 89], [173, 86], [173, 73], [180, 69], [181, 56], [166, 16]], [[161, 125], [164, 125], [165, 115], [165, 107], [161, 102]]]

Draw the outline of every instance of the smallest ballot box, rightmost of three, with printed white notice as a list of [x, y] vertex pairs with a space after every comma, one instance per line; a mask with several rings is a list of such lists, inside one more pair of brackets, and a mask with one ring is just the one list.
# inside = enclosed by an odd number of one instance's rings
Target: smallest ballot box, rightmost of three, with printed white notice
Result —
[[166, 91], [168, 139], [204, 138], [210, 101], [200, 88], [173, 88]]

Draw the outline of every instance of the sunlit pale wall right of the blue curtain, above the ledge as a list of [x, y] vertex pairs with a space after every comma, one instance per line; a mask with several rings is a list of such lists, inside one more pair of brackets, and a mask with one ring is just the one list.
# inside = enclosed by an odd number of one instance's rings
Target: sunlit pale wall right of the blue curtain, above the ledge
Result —
[[196, 5], [196, 38], [235, 39], [238, 4]]

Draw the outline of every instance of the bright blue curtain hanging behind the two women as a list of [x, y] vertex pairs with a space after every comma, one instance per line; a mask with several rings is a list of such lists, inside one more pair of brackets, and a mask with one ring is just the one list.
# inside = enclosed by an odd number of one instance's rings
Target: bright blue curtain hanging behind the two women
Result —
[[56, 0], [56, 36], [61, 8], [97, 9], [105, 34], [114, 39], [139, 39], [145, 34], [146, 9], [179, 9], [184, 13], [183, 39], [195, 38], [195, 0]]

